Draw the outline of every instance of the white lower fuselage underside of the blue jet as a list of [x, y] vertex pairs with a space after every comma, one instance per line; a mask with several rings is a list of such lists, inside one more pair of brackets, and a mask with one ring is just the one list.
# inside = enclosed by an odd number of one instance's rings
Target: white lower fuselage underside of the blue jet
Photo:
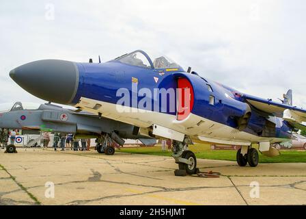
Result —
[[[94, 109], [96, 104], [102, 107]], [[227, 125], [208, 120], [195, 114], [189, 114], [184, 120], [176, 120], [176, 116], [165, 114], [161, 112], [152, 112], [148, 110], [138, 110], [131, 107], [119, 106], [113, 103], [107, 103], [103, 101], [96, 101], [94, 99], [87, 99], [81, 97], [81, 100], [75, 107], [81, 107], [82, 109], [93, 112], [95, 114], [101, 113], [106, 118], [118, 120], [123, 123], [135, 125], [137, 127], [150, 127], [154, 124], [173, 129], [181, 133], [185, 133], [193, 138], [199, 140], [219, 140], [219, 142], [233, 142], [241, 144], [250, 144], [257, 142], [282, 142], [286, 141], [281, 138], [265, 138], [252, 135], [244, 131], [238, 131]], [[119, 110], [118, 110], [119, 109]], [[217, 141], [214, 141], [217, 142]]]

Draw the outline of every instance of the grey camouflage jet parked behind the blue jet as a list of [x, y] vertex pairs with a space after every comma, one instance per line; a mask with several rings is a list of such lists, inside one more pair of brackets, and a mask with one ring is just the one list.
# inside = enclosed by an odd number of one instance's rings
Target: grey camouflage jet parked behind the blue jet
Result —
[[[155, 138], [138, 134], [139, 128], [133, 125], [51, 103], [16, 102], [10, 110], [0, 111], [0, 128], [2, 133], [8, 133], [8, 129], [23, 129], [73, 133], [77, 139], [97, 138], [96, 150], [107, 155], [115, 153], [114, 142], [123, 146], [124, 138], [140, 140], [145, 146], [156, 144]], [[16, 147], [9, 144], [6, 151], [14, 153]]]

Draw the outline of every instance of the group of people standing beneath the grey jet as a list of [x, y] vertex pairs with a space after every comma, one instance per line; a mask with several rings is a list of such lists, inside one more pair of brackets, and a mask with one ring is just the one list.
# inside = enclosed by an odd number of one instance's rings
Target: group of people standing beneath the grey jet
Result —
[[[44, 132], [42, 135], [42, 142], [44, 147], [47, 147], [50, 142], [50, 136], [48, 132]], [[74, 138], [73, 134], [65, 133], [54, 133], [53, 137], [53, 148], [54, 151], [57, 151], [57, 148], [60, 148], [61, 151], [64, 151], [65, 148], [71, 149], [73, 151], [89, 151], [90, 139], [81, 139], [81, 147], [79, 144], [80, 140]]]

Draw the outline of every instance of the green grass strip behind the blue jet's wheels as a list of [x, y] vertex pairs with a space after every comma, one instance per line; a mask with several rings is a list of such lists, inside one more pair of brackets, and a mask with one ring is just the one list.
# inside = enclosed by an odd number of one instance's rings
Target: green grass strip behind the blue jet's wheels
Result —
[[[236, 161], [234, 150], [211, 150], [209, 144], [195, 144], [189, 146], [197, 158], [222, 159]], [[161, 151], [161, 146], [121, 148], [123, 153], [139, 153], [146, 155], [171, 156], [171, 151]], [[260, 154], [260, 163], [305, 163], [306, 151], [281, 151], [277, 157], [266, 157]]]

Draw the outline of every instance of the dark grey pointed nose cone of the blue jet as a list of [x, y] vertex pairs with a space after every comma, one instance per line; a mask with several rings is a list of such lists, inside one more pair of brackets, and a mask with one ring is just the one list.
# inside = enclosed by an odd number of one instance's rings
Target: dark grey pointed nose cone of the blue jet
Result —
[[10, 77], [34, 96], [54, 103], [69, 104], [79, 85], [79, 70], [74, 62], [40, 60], [18, 66]]

